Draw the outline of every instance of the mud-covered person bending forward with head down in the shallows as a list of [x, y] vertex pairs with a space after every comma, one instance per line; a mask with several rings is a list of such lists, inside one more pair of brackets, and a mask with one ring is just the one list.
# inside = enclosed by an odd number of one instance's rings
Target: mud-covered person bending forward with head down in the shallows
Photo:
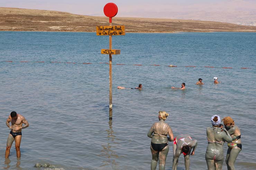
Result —
[[180, 155], [184, 154], [185, 168], [189, 170], [190, 166], [190, 152], [193, 148], [191, 155], [195, 154], [195, 148], [197, 146], [197, 140], [193, 140], [189, 135], [176, 136], [173, 141], [173, 165], [172, 170], [177, 170], [178, 159]]

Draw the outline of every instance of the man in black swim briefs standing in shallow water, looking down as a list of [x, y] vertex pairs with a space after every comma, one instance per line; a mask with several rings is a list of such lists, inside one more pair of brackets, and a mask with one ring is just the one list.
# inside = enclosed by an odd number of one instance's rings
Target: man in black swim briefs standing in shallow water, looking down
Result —
[[[11, 126], [10, 126], [11, 122]], [[22, 126], [22, 124], [25, 124]], [[10, 149], [13, 141], [15, 141], [16, 155], [20, 158], [20, 142], [21, 142], [21, 129], [27, 128], [29, 126], [28, 121], [21, 115], [12, 111], [6, 120], [6, 126], [11, 130], [7, 139], [5, 158], [9, 157]]]

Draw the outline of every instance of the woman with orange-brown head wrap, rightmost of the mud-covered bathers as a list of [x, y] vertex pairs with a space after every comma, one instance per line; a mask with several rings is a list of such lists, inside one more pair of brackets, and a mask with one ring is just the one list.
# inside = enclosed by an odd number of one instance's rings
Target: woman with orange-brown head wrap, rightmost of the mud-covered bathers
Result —
[[226, 156], [226, 164], [228, 170], [235, 170], [235, 161], [238, 156], [238, 153], [242, 149], [241, 144], [241, 132], [238, 126], [235, 125], [234, 120], [231, 117], [225, 117], [222, 119], [225, 128], [228, 130], [228, 133], [232, 137], [232, 142], [228, 143], [228, 151]]

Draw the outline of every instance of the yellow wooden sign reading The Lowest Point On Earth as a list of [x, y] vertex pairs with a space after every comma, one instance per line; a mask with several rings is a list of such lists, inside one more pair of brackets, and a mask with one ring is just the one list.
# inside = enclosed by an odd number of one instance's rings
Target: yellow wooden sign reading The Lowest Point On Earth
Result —
[[97, 36], [123, 36], [125, 35], [125, 26], [97, 26]]

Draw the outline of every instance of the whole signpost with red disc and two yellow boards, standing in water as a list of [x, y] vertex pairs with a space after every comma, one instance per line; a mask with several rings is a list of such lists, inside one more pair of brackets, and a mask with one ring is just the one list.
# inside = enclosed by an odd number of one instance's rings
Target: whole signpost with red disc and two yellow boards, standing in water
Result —
[[97, 26], [96, 35], [109, 36], [109, 49], [101, 49], [101, 54], [109, 54], [109, 120], [112, 120], [112, 54], [120, 54], [120, 50], [112, 49], [112, 36], [125, 35], [125, 26], [112, 26], [112, 17], [118, 12], [115, 3], [107, 3], [103, 11], [109, 17], [109, 26]]

